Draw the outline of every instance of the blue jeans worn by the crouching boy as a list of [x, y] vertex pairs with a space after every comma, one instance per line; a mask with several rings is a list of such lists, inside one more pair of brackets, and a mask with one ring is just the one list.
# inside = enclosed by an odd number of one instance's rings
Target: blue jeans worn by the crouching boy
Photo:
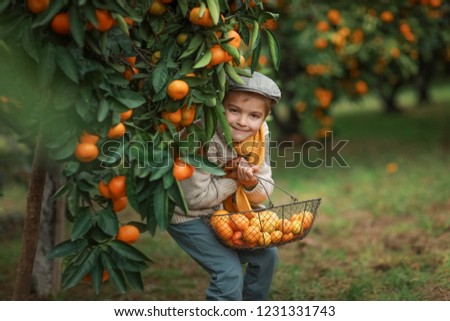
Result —
[[[278, 249], [232, 250], [195, 219], [170, 224], [169, 234], [211, 276], [206, 300], [268, 300]], [[242, 264], [247, 264], [244, 271]]]

